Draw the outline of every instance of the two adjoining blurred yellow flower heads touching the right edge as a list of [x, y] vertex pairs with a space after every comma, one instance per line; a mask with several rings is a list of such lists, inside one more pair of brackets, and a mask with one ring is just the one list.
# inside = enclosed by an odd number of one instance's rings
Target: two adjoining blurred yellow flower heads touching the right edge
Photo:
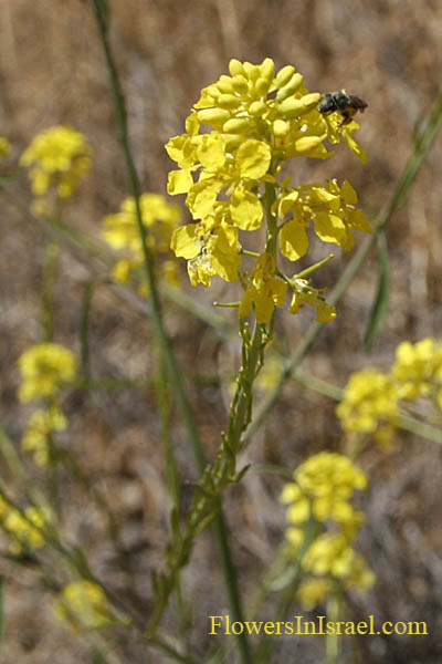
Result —
[[420, 397], [442, 409], [442, 342], [431, 338], [399, 344], [389, 372], [354, 373], [336, 413], [348, 434], [372, 435], [388, 443], [398, 425], [400, 401]]

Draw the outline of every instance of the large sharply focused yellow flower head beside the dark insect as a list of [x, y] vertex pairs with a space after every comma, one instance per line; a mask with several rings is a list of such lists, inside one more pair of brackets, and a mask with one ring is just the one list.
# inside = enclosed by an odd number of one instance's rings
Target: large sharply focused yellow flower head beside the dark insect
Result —
[[[171, 248], [188, 261], [192, 286], [210, 286], [214, 276], [240, 280], [245, 291], [240, 317], [253, 307], [257, 322], [269, 322], [290, 287], [293, 313], [307, 303], [317, 307], [318, 320], [333, 320], [335, 310], [324, 307], [319, 291], [277, 269], [276, 243], [284, 257], [296, 261], [308, 250], [309, 227], [323, 241], [344, 249], [352, 247], [354, 230], [371, 232], [371, 228], [347, 180], [340, 187], [336, 180], [290, 187], [290, 178], [281, 184], [277, 176], [283, 162], [294, 157], [328, 158], [333, 153], [324, 142], [336, 143], [341, 136], [365, 158], [351, 137], [359, 125], [352, 121], [334, 126], [317, 110], [320, 94], [309, 93], [292, 65], [275, 73], [270, 58], [260, 65], [231, 60], [229, 70], [230, 76], [202, 90], [186, 121], [186, 134], [166, 145], [179, 166], [169, 173], [168, 191], [187, 194], [186, 205], [196, 221], [173, 232]], [[240, 231], [261, 228], [264, 211], [266, 247], [252, 270], [240, 273], [244, 255]]]

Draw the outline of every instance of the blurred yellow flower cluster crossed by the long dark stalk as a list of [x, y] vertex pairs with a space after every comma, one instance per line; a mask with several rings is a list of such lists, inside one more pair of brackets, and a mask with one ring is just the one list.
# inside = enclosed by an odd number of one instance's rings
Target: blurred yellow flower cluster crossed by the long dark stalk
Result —
[[[176, 262], [170, 256], [170, 240], [173, 230], [181, 222], [181, 211], [178, 206], [168, 203], [159, 194], [143, 194], [139, 198], [141, 217], [147, 230], [147, 246], [157, 260], [160, 277], [172, 286], [179, 286], [179, 274]], [[120, 211], [104, 218], [103, 237], [113, 249], [124, 250], [126, 257], [115, 264], [113, 276], [116, 281], [127, 283], [130, 273], [139, 270], [143, 264], [143, 246], [138, 232], [134, 198], [122, 203]]]

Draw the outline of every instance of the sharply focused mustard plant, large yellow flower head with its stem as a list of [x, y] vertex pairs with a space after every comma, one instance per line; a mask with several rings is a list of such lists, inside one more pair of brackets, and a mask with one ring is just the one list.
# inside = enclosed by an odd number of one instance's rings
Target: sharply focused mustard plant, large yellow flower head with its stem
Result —
[[[340, 186], [332, 179], [293, 187], [291, 178], [282, 175], [284, 163], [291, 159], [330, 157], [327, 141], [335, 144], [344, 138], [365, 160], [352, 137], [359, 125], [324, 117], [317, 108], [320, 94], [308, 92], [303, 75], [292, 65], [275, 72], [269, 58], [260, 65], [232, 60], [229, 70], [230, 76], [222, 75], [202, 90], [186, 121], [186, 133], [171, 138], [166, 149], [179, 166], [169, 174], [168, 191], [187, 195], [193, 218], [175, 230], [171, 247], [188, 261], [193, 287], [209, 287], [215, 276], [240, 283], [242, 299], [230, 305], [239, 311], [242, 364], [215, 460], [201, 478], [183, 531], [175, 530], [166, 572], [155, 579], [152, 630], [189, 559], [194, 537], [213, 518], [225, 487], [246, 470], [238, 471], [236, 457], [252, 418], [253, 383], [272, 338], [275, 308], [284, 305], [290, 291], [292, 313], [309, 304], [320, 322], [336, 317], [325, 289], [307, 279], [329, 257], [287, 274], [280, 267], [281, 256], [292, 262], [304, 257], [309, 228], [320, 240], [346, 250], [354, 246], [355, 230], [371, 232], [348, 180]], [[261, 228], [265, 230], [261, 250], [244, 247], [248, 234]], [[245, 257], [253, 259], [251, 267], [243, 263]]]

